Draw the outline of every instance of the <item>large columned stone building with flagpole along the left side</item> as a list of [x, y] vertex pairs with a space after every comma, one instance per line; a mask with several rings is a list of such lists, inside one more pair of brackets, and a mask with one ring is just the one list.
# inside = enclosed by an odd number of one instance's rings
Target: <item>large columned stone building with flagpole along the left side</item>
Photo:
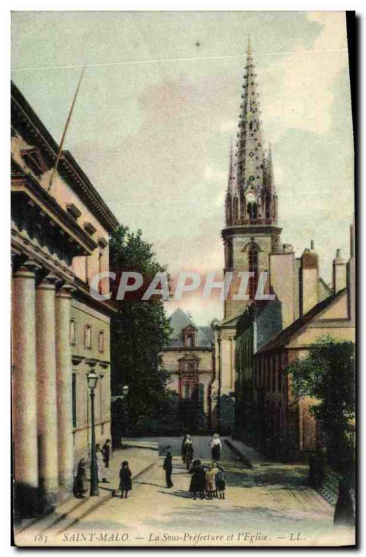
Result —
[[[12, 380], [15, 512], [36, 515], [72, 492], [88, 457], [95, 393], [97, 439], [110, 435], [109, 320], [115, 308], [90, 295], [109, 270], [118, 221], [70, 152], [50, 187], [58, 145], [11, 87]], [[108, 279], [98, 285], [109, 292]]]

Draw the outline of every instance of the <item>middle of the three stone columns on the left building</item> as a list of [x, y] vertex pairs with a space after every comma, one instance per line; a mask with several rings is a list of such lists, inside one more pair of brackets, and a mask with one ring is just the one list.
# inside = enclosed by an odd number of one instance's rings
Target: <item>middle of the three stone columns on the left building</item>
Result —
[[55, 279], [51, 275], [35, 291], [35, 315], [40, 496], [42, 510], [47, 512], [58, 496]]

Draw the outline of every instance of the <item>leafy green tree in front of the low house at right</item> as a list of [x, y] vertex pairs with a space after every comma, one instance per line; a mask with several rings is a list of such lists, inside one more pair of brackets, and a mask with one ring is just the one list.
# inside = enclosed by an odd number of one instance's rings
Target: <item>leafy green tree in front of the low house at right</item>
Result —
[[287, 367], [296, 397], [316, 398], [310, 412], [321, 422], [331, 464], [343, 466], [353, 458], [355, 415], [354, 344], [323, 336], [310, 346], [309, 355]]

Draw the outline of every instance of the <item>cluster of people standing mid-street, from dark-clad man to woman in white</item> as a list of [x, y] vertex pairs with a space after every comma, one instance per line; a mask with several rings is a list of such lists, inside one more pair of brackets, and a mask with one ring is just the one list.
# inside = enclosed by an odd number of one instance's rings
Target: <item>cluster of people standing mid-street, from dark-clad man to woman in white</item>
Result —
[[[189, 433], [184, 435], [182, 441], [182, 461], [186, 469], [192, 474], [189, 492], [193, 493], [193, 499], [197, 499], [199, 494], [201, 499], [225, 499], [225, 486], [228, 480], [228, 474], [225, 470], [218, 466], [218, 460], [221, 455], [221, 439], [218, 433], [215, 433], [210, 443], [212, 451], [212, 464], [202, 464], [199, 459], [193, 460], [194, 448]], [[166, 473], [166, 487], [173, 487], [173, 456], [170, 450], [166, 452], [163, 469]]]

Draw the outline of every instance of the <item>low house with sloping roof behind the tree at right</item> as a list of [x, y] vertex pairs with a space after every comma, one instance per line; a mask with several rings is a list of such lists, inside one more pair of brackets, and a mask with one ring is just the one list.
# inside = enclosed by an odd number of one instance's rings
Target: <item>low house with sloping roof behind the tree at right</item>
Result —
[[[351, 234], [352, 230], [353, 226]], [[253, 420], [258, 448], [297, 460], [321, 446], [319, 427], [309, 411], [315, 400], [294, 398], [285, 369], [289, 363], [307, 356], [310, 345], [321, 336], [355, 342], [354, 299], [353, 250], [347, 265], [337, 250], [333, 261], [333, 294], [315, 304], [255, 354]], [[268, 446], [269, 440], [272, 447]]]

